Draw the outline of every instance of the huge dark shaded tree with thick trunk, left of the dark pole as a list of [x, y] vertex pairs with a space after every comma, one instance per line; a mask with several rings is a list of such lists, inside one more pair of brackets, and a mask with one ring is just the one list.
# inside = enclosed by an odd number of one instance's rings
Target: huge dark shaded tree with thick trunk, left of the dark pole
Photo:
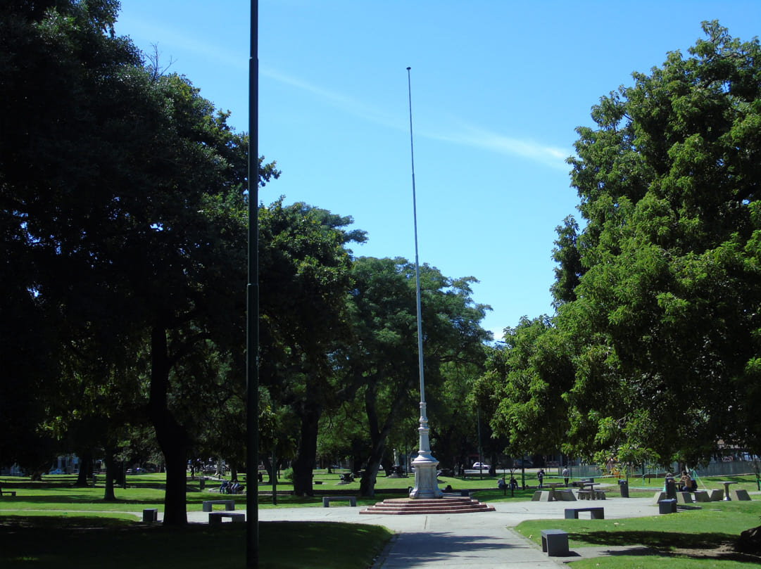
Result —
[[[247, 137], [185, 78], [145, 68], [113, 34], [118, 6], [3, 5], [0, 101], [14, 113], [2, 116], [0, 231], [4, 261], [28, 265], [10, 287], [16, 326], [46, 330], [19, 338], [53, 340], [47, 386], [92, 377], [78, 347], [107, 360], [145, 348], [145, 374], [130, 376], [135, 389], [148, 377], [164, 522], [185, 523], [190, 385], [222, 373], [199, 354], [242, 354]], [[260, 183], [276, 175], [260, 167]]]

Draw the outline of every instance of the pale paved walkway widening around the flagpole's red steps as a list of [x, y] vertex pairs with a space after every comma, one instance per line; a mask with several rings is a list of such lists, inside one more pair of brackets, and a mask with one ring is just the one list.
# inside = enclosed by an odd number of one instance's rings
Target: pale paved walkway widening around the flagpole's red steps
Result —
[[[606, 519], [658, 514], [652, 497], [610, 497], [587, 502], [507, 502], [490, 504], [495, 512], [413, 514], [404, 516], [360, 515], [359, 507], [273, 508], [259, 510], [260, 521], [324, 521], [370, 523], [396, 532], [373, 569], [557, 569], [563, 561], [612, 555], [620, 548], [578, 548], [568, 558], [549, 558], [534, 542], [513, 528], [524, 520], [562, 520], [566, 507], [605, 507]], [[585, 515], [582, 513], [581, 516]], [[189, 521], [208, 522], [209, 514], [189, 512]], [[584, 523], [584, 520], [580, 520]], [[548, 523], [547, 529], [552, 529]]]

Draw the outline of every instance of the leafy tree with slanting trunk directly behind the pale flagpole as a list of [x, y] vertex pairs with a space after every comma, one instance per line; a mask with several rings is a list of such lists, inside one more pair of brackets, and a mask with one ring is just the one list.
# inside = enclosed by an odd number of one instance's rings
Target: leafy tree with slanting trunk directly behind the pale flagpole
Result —
[[[364, 399], [370, 448], [360, 491], [374, 495], [378, 467], [390, 463], [387, 440], [397, 423], [417, 414], [419, 364], [415, 266], [406, 259], [356, 259], [349, 294], [353, 335], [336, 361], [344, 396]], [[441, 382], [447, 364], [478, 364], [489, 332], [479, 325], [486, 310], [471, 298], [475, 279], [444, 277], [420, 268], [425, 383]], [[356, 466], [356, 465], [355, 465]]]

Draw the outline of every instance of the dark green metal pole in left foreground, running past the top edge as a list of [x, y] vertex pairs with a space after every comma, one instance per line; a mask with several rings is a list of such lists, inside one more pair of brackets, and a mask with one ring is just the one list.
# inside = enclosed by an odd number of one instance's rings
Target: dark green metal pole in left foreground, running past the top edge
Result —
[[259, 2], [251, 0], [248, 62], [248, 284], [246, 287], [246, 567], [259, 567]]

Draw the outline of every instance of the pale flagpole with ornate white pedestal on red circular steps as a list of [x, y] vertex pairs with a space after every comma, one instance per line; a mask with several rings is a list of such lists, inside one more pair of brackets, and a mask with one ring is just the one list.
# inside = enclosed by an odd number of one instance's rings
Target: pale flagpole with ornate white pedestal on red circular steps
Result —
[[444, 493], [436, 482], [438, 460], [431, 456], [431, 443], [428, 440], [428, 417], [425, 412], [425, 379], [423, 374], [423, 325], [420, 304], [420, 265], [418, 259], [418, 206], [415, 195], [415, 148], [412, 145], [412, 79], [407, 68], [407, 93], [409, 95], [409, 151], [412, 158], [412, 218], [415, 226], [415, 284], [418, 305], [418, 364], [420, 368], [420, 450], [412, 461], [415, 467], [415, 488], [409, 492], [411, 498], [442, 497]]

